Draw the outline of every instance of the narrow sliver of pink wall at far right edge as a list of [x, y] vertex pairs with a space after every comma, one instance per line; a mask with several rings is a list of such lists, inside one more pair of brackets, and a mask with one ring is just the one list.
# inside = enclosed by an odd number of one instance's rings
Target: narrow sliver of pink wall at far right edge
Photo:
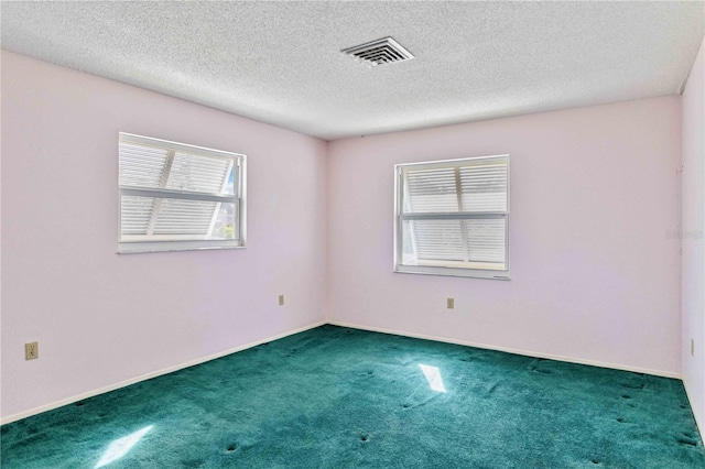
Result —
[[682, 99], [683, 381], [701, 433], [705, 433], [705, 41]]

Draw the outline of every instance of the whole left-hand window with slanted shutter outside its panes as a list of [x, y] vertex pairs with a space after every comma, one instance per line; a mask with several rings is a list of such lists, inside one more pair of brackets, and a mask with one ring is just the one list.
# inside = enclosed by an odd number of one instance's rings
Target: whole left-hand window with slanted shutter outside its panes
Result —
[[245, 247], [245, 155], [120, 132], [118, 251]]

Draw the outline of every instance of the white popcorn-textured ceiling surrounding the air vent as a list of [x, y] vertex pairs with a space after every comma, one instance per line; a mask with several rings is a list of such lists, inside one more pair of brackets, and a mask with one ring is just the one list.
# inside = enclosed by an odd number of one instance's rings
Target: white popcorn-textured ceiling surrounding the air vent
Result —
[[[1, 2], [2, 48], [326, 140], [673, 95], [695, 2]], [[416, 58], [339, 51], [392, 36]]]

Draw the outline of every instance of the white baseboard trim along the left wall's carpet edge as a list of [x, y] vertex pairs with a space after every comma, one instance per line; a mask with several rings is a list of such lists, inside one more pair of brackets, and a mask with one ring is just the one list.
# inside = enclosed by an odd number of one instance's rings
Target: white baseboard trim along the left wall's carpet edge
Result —
[[66, 399], [63, 399], [61, 401], [53, 402], [51, 404], [41, 405], [39, 407], [30, 408], [29, 411], [19, 412], [17, 414], [9, 415], [7, 417], [1, 418], [0, 419], [0, 425], [9, 424], [9, 423], [15, 422], [15, 421], [21, 421], [22, 418], [31, 417], [32, 415], [41, 414], [42, 412], [52, 411], [52, 410], [61, 407], [63, 405], [73, 404], [74, 402], [83, 401], [83, 400], [88, 399], [88, 397], [94, 397], [96, 395], [104, 394], [104, 393], [107, 393], [107, 392], [110, 392], [110, 391], [115, 391], [115, 390], [118, 390], [120, 388], [129, 386], [131, 384], [135, 384], [135, 383], [139, 383], [141, 381], [147, 381], [147, 380], [151, 380], [152, 378], [161, 377], [163, 374], [173, 373], [174, 371], [183, 370], [184, 368], [189, 368], [189, 367], [194, 367], [196, 364], [205, 363], [205, 362], [210, 361], [210, 360], [216, 360], [218, 358], [223, 358], [223, 357], [228, 356], [230, 353], [235, 353], [235, 352], [239, 352], [239, 351], [252, 348], [252, 347], [257, 347], [257, 346], [259, 346], [261, 343], [264, 343], [264, 342], [271, 342], [272, 340], [283, 339], [284, 337], [293, 336], [294, 334], [303, 332], [304, 330], [314, 329], [314, 328], [323, 326], [325, 324], [326, 324], [325, 320], [322, 320], [322, 321], [318, 321], [318, 323], [313, 323], [313, 324], [310, 324], [310, 325], [304, 326], [304, 327], [300, 327], [300, 328], [294, 329], [294, 330], [289, 330], [286, 332], [282, 332], [282, 334], [278, 334], [275, 336], [268, 337], [265, 339], [261, 339], [261, 340], [257, 340], [254, 342], [246, 343], [243, 346], [235, 347], [235, 348], [231, 348], [229, 350], [224, 350], [221, 352], [214, 353], [214, 355], [210, 355], [210, 356], [207, 356], [207, 357], [203, 357], [203, 358], [198, 358], [196, 360], [191, 360], [191, 361], [187, 361], [185, 363], [176, 364], [174, 367], [164, 368], [162, 370], [153, 371], [153, 372], [147, 373], [147, 374], [142, 374], [142, 375], [137, 377], [137, 378], [131, 378], [129, 380], [120, 381], [119, 383], [115, 383], [115, 384], [107, 385], [105, 388], [100, 388], [100, 389], [97, 389], [97, 390], [88, 391], [88, 392], [85, 392], [83, 394], [74, 395], [72, 397], [66, 397]]

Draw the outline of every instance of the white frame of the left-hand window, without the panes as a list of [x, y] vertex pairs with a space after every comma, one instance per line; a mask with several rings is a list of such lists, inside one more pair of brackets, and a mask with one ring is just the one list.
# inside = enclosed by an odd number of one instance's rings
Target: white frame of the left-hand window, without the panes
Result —
[[[208, 194], [192, 190], [178, 190], [154, 187], [137, 187], [120, 185], [118, 175], [118, 253], [129, 254], [139, 252], [166, 252], [166, 251], [189, 251], [189, 250], [213, 250], [213, 249], [241, 249], [247, 246], [247, 157], [240, 153], [214, 150], [204, 146], [189, 145], [186, 143], [172, 142], [169, 140], [154, 139], [151, 137], [138, 135], [133, 133], [119, 132], [119, 142], [149, 145], [170, 152], [170, 160], [175, 152], [184, 152], [198, 156], [217, 156], [219, 159], [232, 159], [234, 164], [234, 194]], [[119, 173], [119, 163], [118, 163]], [[182, 200], [206, 200], [236, 205], [236, 239], [208, 239], [208, 240], [127, 240], [122, 238], [122, 197], [141, 196]], [[156, 237], [155, 237], [156, 238]]]

